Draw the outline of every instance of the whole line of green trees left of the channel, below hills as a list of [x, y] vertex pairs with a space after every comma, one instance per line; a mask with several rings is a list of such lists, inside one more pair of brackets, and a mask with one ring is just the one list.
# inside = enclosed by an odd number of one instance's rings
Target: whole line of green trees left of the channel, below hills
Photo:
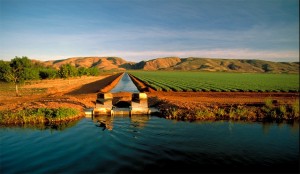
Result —
[[97, 76], [100, 71], [96, 67], [75, 67], [64, 64], [59, 69], [46, 67], [39, 62], [33, 62], [28, 57], [15, 57], [11, 61], [0, 60], [0, 80], [15, 84], [16, 94], [19, 95], [18, 85], [27, 80], [55, 79], [81, 76]]

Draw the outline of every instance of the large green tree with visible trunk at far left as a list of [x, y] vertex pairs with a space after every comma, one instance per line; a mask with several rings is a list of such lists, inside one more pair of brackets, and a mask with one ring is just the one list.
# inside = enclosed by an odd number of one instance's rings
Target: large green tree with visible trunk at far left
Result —
[[14, 83], [16, 95], [19, 96], [18, 85], [37, 77], [31, 67], [32, 63], [27, 57], [15, 57], [10, 62], [0, 61], [0, 79]]

